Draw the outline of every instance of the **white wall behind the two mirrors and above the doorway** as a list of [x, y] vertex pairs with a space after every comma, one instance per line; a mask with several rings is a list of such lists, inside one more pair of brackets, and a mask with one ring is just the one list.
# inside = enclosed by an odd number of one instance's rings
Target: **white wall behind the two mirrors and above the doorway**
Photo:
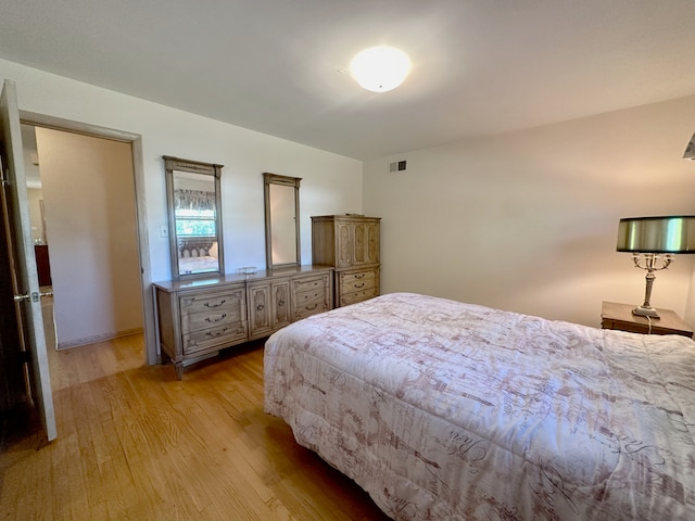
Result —
[[[225, 165], [225, 267], [265, 266], [263, 173], [301, 177], [302, 259], [311, 262], [311, 216], [362, 212], [362, 162], [0, 60], [21, 111], [142, 136], [144, 202], [153, 281], [170, 278], [163, 155]], [[191, 92], [195, 96], [195, 92]], [[235, 103], [229, 99], [229, 103]], [[150, 289], [146, 289], [146, 297]], [[146, 325], [152, 327], [152, 325]], [[151, 330], [151, 329], [150, 329]], [[150, 353], [151, 355], [151, 353]]]

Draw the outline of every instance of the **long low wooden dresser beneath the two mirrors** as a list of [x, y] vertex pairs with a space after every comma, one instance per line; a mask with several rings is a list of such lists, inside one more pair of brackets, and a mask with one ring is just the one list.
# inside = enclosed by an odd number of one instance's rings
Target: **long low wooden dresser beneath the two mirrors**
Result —
[[330, 266], [172, 280], [153, 288], [162, 361], [170, 359], [179, 379], [190, 364], [333, 307]]

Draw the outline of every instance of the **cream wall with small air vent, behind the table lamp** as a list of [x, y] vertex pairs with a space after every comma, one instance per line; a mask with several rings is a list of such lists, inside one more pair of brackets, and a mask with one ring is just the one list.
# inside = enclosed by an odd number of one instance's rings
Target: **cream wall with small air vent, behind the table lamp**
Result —
[[[602, 301], [641, 304], [644, 271], [616, 252], [618, 220], [695, 214], [695, 163], [682, 160], [694, 130], [688, 97], [366, 162], [382, 291], [590, 326]], [[407, 170], [389, 174], [396, 160]], [[692, 257], [657, 275], [652, 303], [694, 325]]]

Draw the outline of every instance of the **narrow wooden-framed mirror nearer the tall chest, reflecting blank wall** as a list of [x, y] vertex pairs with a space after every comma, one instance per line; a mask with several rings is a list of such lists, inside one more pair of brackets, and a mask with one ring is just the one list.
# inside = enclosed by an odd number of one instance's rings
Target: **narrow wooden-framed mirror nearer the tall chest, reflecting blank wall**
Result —
[[268, 270], [301, 266], [299, 177], [263, 174], [265, 258]]

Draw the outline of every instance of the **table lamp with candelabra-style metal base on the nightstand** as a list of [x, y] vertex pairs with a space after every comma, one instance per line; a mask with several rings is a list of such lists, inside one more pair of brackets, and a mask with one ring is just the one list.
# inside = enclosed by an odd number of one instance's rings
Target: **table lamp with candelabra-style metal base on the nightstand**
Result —
[[695, 253], [695, 215], [620, 219], [617, 250], [632, 253], [634, 265], [647, 271], [644, 304], [632, 314], [659, 318], [649, 303], [654, 272], [668, 268], [675, 254]]

